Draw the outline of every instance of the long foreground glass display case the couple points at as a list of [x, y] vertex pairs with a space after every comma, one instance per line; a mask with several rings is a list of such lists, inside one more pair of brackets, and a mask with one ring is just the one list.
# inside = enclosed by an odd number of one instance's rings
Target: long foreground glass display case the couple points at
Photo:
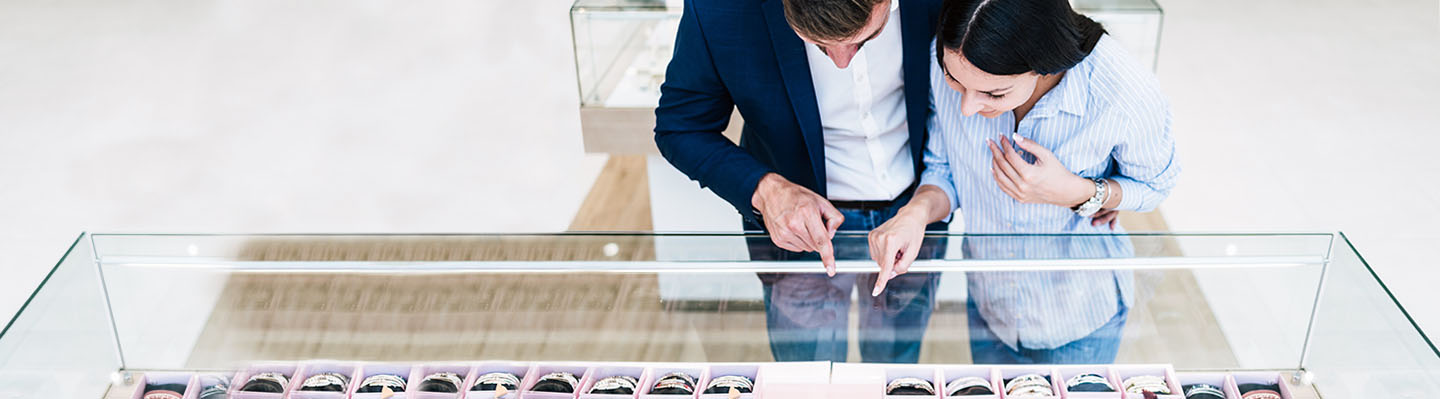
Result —
[[580, 390], [746, 375], [772, 399], [1035, 370], [1056, 398], [1109, 398], [1064, 390], [1089, 373], [1440, 398], [1440, 353], [1344, 235], [932, 235], [880, 295], [865, 235], [835, 248], [831, 278], [740, 233], [81, 235], [0, 333], [0, 398], [199, 398], [262, 372], [350, 392], [393, 373], [432, 398], [425, 376], [487, 370], [520, 390], [554, 370]]

